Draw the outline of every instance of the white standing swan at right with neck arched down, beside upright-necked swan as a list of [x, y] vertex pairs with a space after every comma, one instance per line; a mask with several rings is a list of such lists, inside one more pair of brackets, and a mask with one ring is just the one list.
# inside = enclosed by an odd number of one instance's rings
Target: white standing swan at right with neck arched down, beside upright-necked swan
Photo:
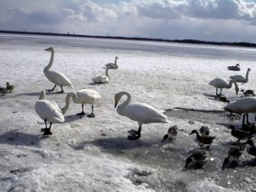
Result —
[[[238, 85], [237, 85], [237, 83], [235, 82], [235, 80], [231, 80], [230, 82], [228, 82], [226, 79], [223, 79], [223, 78], [214, 78], [213, 80], [211, 80], [211, 81], [209, 82], [208, 85], [215, 87], [215, 88], [216, 88], [216, 95], [217, 95], [217, 96], [221, 96], [221, 95], [222, 95], [223, 88], [231, 88], [231, 87], [232, 87], [232, 83], [234, 84], [235, 93], [236, 93], [236, 95], [237, 95], [237, 94], [238, 94], [238, 91], [239, 91], [239, 88], [238, 88]], [[220, 94], [218, 94], [218, 88], [221, 89]]]

